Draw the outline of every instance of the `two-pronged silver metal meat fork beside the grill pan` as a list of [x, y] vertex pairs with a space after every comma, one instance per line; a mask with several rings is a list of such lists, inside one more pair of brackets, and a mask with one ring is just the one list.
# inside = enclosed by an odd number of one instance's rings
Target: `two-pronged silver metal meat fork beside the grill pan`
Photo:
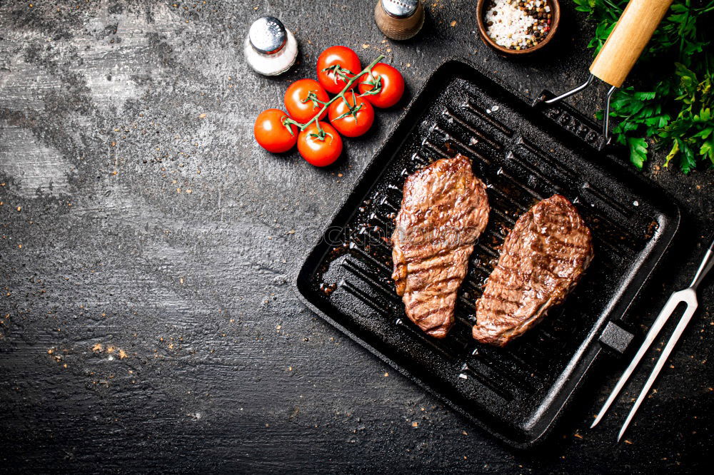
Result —
[[667, 346], [660, 355], [660, 359], [657, 360], [657, 364], [655, 364], [655, 368], [652, 370], [649, 379], [645, 383], [645, 387], [643, 387], [642, 392], [640, 392], [640, 396], [637, 398], [637, 401], [635, 401], [635, 405], [630, 410], [630, 414], [628, 414], [628, 417], [625, 420], [625, 424], [623, 424], [622, 429], [620, 429], [620, 434], [618, 434], [618, 441], [620, 441], [623, 434], [625, 434], [628, 425], [630, 425], [630, 421], [632, 421], [632, 418], [635, 416], [637, 409], [639, 409], [640, 404], [642, 404], [643, 400], [645, 399], [645, 396], [647, 396], [647, 394], [650, 392], [650, 387], [652, 387], [653, 382], [655, 382], [655, 379], [657, 379], [658, 374], [660, 374], [660, 370], [667, 361], [667, 358], [672, 352], [672, 349], [675, 347], [675, 344], [677, 344], [679, 337], [682, 336], [682, 333], [687, 327], [689, 320], [691, 320], [692, 315], [694, 314], [695, 310], [697, 310], [697, 287], [698, 285], [700, 285], [702, 280], [704, 280], [705, 275], [707, 274], [707, 272], [709, 272], [709, 270], [711, 270], [712, 267], [714, 267], [714, 235], [712, 235], [711, 243], [707, 248], [707, 252], [704, 255], [704, 259], [702, 260], [702, 263], [699, 266], [699, 270], [697, 270], [697, 274], [694, 276], [694, 280], [692, 280], [692, 283], [686, 289], [680, 290], [679, 292], [674, 292], [672, 295], [670, 295], [669, 300], [663, 307], [662, 311], [660, 312], [660, 315], [657, 317], [657, 320], [655, 320], [652, 325], [652, 328], [650, 328], [650, 331], [647, 333], [647, 336], [645, 337], [645, 342], [643, 342], [640, 349], [638, 349], [637, 354], [635, 354], [635, 357], [633, 358], [632, 362], [630, 362], [630, 366], [625, 369], [625, 372], [620, 377], [620, 381], [618, 381], [618, 384], [615, 386], [615, 389], [613, 389], [613, 392], [610, 393], [610, 397], [608, 397], [608, 400], [605, 401], [605, 404], [603, 404], [603, 408], [600, 409], [600, 414], [598, 414], [598, 417], [595, 417], [595, 422], [593, 422], [593, 425], [590, 426], [590, 429], [595, 427], [598, 422], [603, 419], [605, 412], [608, 412], [610, 404], [613, 404], [615, 397], [617, 397], [620, 390], [623, 389], [625, 383], [635, 371], [635, 367], [637, 367], [637, 364], [640, 362], [640, 359], [642, 359], [642, 357], [645, 355], [645, 353], [651, 346], [652, 342], [654, 342], [655, 338], [657, 338], [657, 335], [660, 330], [662, 330], [662, 327], [664, 327], [665, 323], [667, 323], [667, 320], [669, 320], [669, 317], [672, 315], [678, 305], [680, 305], [680, 303], [684, 303], [686, 305], [684, 315], [682, 315], [681, 320], [677, 324], [677, 327], [675, 328], [672, 336], [667, 342]]

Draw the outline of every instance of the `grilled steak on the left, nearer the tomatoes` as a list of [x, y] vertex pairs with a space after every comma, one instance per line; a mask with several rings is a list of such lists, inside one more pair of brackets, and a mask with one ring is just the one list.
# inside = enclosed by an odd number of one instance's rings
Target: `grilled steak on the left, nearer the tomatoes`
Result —
[[486, 185], [463, 155], [436, 160], [404, 183], [392, 235], [397, 294], [421, 330], [443, 338], [473, 243], [488, 223]]

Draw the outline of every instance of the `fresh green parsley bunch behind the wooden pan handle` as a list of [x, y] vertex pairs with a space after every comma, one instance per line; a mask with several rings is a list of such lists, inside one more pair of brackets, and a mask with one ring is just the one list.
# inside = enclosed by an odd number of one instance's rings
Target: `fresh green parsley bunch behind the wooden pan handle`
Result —
[[[628, 0], [574, 1], [576, 10], [598, 21], [588, 45], [597, 53]], [[637, 168], [648, 158], [648, 138], [670, 150], [665, 166], [675, 160], [684, 173], [698, 164], [714, 168], [712, 11], [714, 0], [675, 0], [639, 60], [653, 74], [642, 87], [613, 95], [610, 116], [620, 119], [613, 136], [628, 147]]]

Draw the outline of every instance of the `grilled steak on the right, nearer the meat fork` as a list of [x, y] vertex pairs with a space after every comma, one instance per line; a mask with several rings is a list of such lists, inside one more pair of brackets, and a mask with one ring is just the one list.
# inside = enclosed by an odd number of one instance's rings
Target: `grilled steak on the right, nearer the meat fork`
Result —
[[473, 337], [502, 347], [565, 299], [593, 259], [590, 230], [570, 201], [553, 195], [518, 218], [476, 302]]

